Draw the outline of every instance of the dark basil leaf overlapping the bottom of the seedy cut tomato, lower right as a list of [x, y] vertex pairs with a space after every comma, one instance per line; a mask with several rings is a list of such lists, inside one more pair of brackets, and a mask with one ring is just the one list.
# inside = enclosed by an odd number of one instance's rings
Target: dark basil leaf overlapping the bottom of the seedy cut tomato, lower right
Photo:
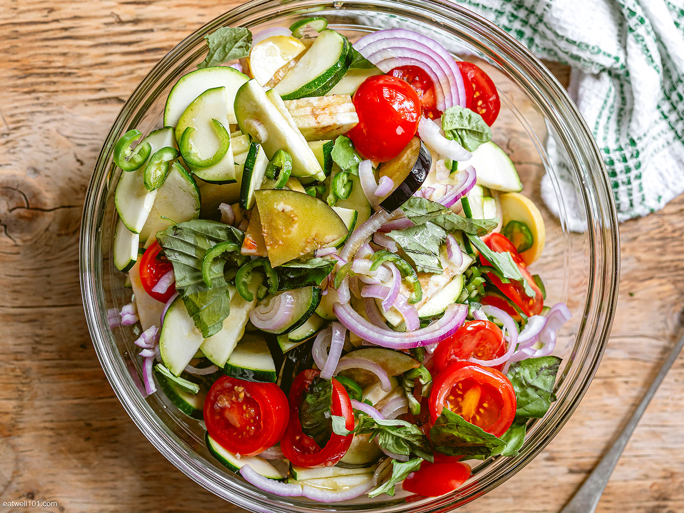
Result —
[[437, 417], [430, 430], [432, 445], [440, 453], [456, 456], [489, 456], [492, 449], [505, 447], [505, 442], [471, 424], [447, 408]]

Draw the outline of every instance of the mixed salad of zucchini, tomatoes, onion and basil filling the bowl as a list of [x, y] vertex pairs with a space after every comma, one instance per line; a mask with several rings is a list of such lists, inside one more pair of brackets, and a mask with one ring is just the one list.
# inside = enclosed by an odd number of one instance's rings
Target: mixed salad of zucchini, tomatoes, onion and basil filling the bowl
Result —
[[161, 128], [114, 147], [132, 298], [109, 320], [139, 326], [145, 393], [283, 497], [436, 497], [516, 456], [570, 311], [533, 274], [544, 221], [491, 140], [492, 79], [324, 17], [207, 45]]

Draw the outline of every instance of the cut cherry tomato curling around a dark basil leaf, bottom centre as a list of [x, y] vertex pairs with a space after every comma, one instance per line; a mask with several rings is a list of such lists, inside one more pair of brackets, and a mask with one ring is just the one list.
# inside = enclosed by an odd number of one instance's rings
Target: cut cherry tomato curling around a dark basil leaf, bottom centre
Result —
[[[306, 369], [300, 372], [290, 389], [290, 421], [287, 425], [285, 436], [280, 440], [280, 449], [282, 449], [285, 458], [290, 460], [292, 464], [299, 466], [332, 466], [336, 464], [345, 455], [350, 445], [352, 445], [352, 438], [354, 438], [354, 435], [351, 434], [341, 436], [333, 433], [330, 435], [330, 440], [328, 440], [326, 447], [321, 449], [313, 438], [306, 436], [302, 432], [299, 407], [302, 404], [304, 392], [308, 390], [313, 378], [318, 376], [318, 374], [319, 371], [315, 369]], [[332, 405], [330, 413], [344, 417], [347, 430], [354, 429], [352, 402], [344, 386], [334, 378], [332, 378]]]

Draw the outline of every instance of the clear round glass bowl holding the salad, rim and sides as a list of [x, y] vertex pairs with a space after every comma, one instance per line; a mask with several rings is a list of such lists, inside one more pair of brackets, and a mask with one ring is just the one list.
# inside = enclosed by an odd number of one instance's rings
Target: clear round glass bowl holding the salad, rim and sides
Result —
[[[207, 451], [200, 421], [169, 407], [161, 394], [141, 393], [141, 360], [132, 326], [110, 328], [107, 310], [130, 301], [125, 275], [114, 267], [111, 246], [116, 226], [114, 189], [120, 175], [111, 159], [114, 144], [128, 129], [161, 127], [166, 96], [176, 80], [196, 68], [207, 53], [203, 36], [224, 26], [259, 31], [289, 27], [306, 16], [325, 16], [329, 26], [352, 42], [380, 28], [404, 27], [442, 43], [453, 55], [477, 62], [501, 95], [493, 140], [516, 163], [523, 192], [540, 207], [547, 227], [546, 248], [532, 269], [544, 278], [547, 302], [566, 302], [572, 319], [559, 333], [554, 354], [563, 361], [555, 386], [557, 401], [542, 419], [531, 421], [515, 458], [479, 462], [456, 492], [406, 501], [366, 496], [342, 503], [276, 497], [225, 469]], [[547, 174], [543, 181], [542, 176]], [[555, 203], [553, 215], [541, 194]], [[579, 226], [578, 226], [579, 225]], [[583, 228], [571, 232], [570, 228]], [[440, 0], [253, 0], [188, 36], [135, 88], [107, 135], [90, 181], [81, 227], [81, 288], [90, 333], [107, 378], [140, 430], [181, 471], [216, 495], [256, 512], [382, 511], [432, 512], [457, 508], [512, 477], [562, 428], [586, 392], [610, 331], [618, 282], [616, 213], [599, 148], [565, 90], [523, 45], [491, 23]], [[144, 389], [142, 389], [144, 391]], [[400, 488], [400, 487], [398, 487]]]

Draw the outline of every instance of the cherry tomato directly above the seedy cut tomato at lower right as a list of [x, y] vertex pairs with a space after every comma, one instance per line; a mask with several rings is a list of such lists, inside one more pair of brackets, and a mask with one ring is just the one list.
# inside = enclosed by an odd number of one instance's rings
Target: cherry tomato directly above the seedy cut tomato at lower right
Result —
[[[434, 354], [434, 366], [441, 371], [458, 360], [493, 360], [503, 356], [506, 344], [499, 326], [490, 321], [466, 321], [448, 339], [441, 341]], [[494, 369], [501, 370], [503, 363]]]

